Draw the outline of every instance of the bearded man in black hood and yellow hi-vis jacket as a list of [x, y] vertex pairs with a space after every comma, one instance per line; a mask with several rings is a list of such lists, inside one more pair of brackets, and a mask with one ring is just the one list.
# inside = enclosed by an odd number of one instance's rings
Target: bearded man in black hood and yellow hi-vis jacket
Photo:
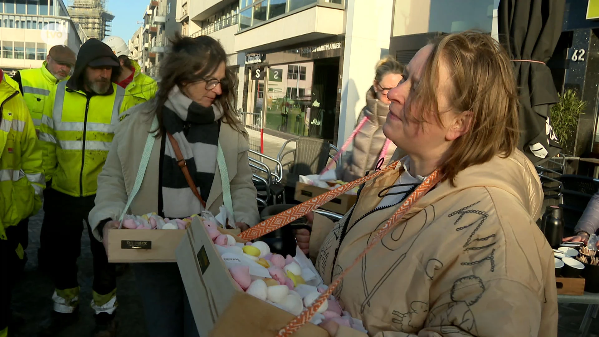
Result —
[[[83, 227], [94, 206], [98, 173], [119, 123], [125, 89], [113, 83], [120, 71], [110, 47], [91, 39], [81, 46], [73, 76], [52, 92], [53, 109], [44, 113], [39, 139], [43, 144], [44, 170], [52, 178], [44, 204], [41, 230], [43, 251], [51, 264], [55, 291], [53, 312], [39, 336], [54, 336], [77, 320], [79, 285], [77, 258]], [[116, 333], [114, 311], [116, 275], [101, 242], [91, 238], [94, 279], [92, 303], [94, 336]]]

